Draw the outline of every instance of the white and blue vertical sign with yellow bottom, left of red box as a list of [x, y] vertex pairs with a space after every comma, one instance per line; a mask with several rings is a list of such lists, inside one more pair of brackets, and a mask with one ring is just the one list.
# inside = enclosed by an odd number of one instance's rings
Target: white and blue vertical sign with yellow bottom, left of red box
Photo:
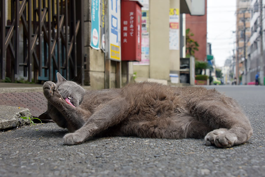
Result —
[[109, 58], [110, 60], [121, 60], [120, 41], [120, 0], [108, 1], [109, 14]]

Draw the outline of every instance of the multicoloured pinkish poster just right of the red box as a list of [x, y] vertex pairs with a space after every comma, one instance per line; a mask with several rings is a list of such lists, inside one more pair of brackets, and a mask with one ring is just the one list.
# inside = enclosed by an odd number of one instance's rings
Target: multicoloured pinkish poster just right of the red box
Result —
[[139, 0], [142, 7], [141, 61], [133, 65], [149, 65], [149, 0]]

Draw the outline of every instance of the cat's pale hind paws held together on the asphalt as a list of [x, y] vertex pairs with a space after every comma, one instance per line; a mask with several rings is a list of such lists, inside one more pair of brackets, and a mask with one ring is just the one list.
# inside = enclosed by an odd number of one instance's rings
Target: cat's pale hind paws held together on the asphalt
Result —
[[234, 145], [236, 140], [237, 137], [233, 136], [225, 129], [213, 130], [204, 138], [207, 146], [216, 145], [218, 148], [229, 148]]

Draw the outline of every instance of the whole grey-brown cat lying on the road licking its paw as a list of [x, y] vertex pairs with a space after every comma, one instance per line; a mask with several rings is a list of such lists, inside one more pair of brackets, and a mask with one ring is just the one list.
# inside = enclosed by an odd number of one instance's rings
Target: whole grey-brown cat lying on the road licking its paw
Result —
[[58, 82], [43, 85], [44, 113], [69, 132], [64, 144], [93, 136], [203, 138], [206, 145], [227, 148], [252, 135], [249, 119], [232, 98], [215, 89], [129, 84], [121, 89], [84, 90], [57, 73]]

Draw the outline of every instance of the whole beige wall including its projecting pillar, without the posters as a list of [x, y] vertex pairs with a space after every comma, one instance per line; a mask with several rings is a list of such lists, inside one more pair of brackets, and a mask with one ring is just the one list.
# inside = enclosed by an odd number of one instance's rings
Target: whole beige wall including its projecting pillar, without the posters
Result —
[[150, 65], [134, 65], [138, 77], [169, 80], [180, 70], [180, 51], [169, 50], [169, 9], [180, 9], [180, 0], [150, 0]]

